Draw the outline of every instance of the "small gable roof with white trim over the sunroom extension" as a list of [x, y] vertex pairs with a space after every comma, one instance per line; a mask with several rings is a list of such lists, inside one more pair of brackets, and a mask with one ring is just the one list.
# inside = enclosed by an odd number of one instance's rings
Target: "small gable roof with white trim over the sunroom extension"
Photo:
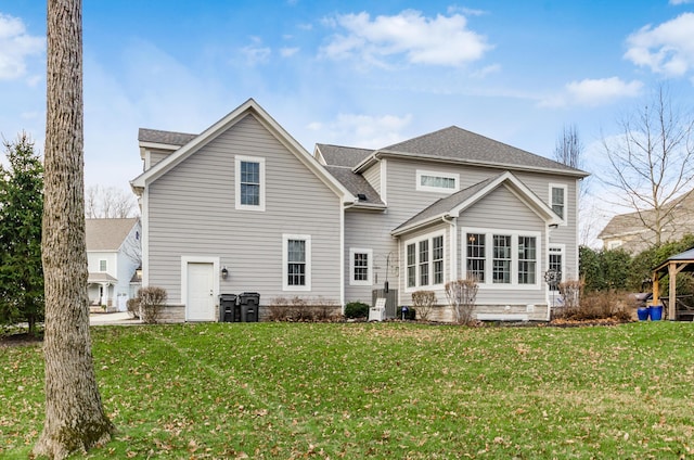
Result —
[[512, 173], [505, 171], [499, 176], [490, 177], [481, 182], [452, 193], [449, 196], [437, 200], [432, 205], [427, 206], [422, 212], [394, 229], [390, 233], [394, 237], [397, 237], [447, 217], [459, 217], [462, 212], [502, 186], [507, 187], [514, 195], [516, 195], [536, 214], [542, 217], [548, 225], [561, 222], [560, 217], [551, 207], [540, 200]]

